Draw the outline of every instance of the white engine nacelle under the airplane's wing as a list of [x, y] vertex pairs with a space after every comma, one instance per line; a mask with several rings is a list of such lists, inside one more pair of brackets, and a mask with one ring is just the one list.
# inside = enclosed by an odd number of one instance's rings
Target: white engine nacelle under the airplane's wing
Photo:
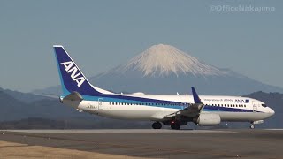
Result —
[[221, 118], [218, 114], [203, 113], [194, 118], [194, 122], [197, 125], [219, 125]]

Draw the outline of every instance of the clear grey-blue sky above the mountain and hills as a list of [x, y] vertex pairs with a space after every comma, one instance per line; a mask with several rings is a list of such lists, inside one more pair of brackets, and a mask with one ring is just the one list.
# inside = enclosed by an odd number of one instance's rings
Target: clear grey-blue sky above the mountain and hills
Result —
[[[239, 5], [275, 11], [223, 9]], [[283, 87], [282, 6], [263, 0], [2, 0], [0, 87], [28, 92], [58, 85], [53, 44], [64, 45], [89, 77], [158, 43]]]

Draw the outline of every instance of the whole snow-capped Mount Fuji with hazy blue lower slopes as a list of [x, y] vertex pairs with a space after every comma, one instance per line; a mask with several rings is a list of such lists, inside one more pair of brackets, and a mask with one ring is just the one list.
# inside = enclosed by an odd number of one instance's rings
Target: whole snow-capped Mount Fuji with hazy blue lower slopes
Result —
[[[79, 64], [80, 66], [80, 64]], [[283, 92], [238, 72], [204, 64], [170, 45], [151, 46], [126, 64], [100, 73], [89, 81], [116, 93], [189, 94], [190, 87], [201, 95], [248, 95], [256, 91]], [[59, 94], [59, 87], [35, 91]]]

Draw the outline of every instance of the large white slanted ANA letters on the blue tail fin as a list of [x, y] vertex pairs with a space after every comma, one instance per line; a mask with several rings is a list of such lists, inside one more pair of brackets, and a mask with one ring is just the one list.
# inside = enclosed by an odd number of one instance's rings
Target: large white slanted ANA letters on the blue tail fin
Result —
[[61, 65], [65, 66], [65, 71], [67, 73], [72, 72], [71, 78], [73, 79], [73, 81], [77, 82], [78, 87], [80, 87], [83, 84], [83, 82], [86, 80], [83, 76], [80, 76], [81, 73], [80, 73], [79, 69], [73, 64], [72, 61], [61, 63]]

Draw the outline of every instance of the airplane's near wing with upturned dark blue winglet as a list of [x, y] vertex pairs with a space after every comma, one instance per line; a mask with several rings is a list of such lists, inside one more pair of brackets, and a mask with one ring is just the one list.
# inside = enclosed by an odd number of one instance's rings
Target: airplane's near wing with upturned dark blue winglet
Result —
[[180, 116], [185, 116], [185, 117], [197, 117], [199, 114], [203, 111], [204, 104], [197, 95], [195, 91], [195, 87], [192, 87], [192, 93], [194, 96], [194, 102], [191, 103], [187, 108], [184, 110], [179, 110], [176, 111], [172, 114], [169, 114], [167, 116], [164, 116], [164, 118], [172, 118], [172, 117], [180, 117]]

